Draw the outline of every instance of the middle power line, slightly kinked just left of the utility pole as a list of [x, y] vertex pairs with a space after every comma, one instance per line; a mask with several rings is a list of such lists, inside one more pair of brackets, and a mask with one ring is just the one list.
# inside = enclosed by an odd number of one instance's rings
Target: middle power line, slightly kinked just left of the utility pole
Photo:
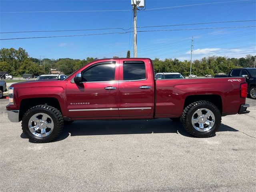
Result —
[[[253, 22], [256, 20], [238, 20], [238, 21], [218, 21], [218, 22], [204, 22], [204, 23], [190, 23], [190, 24], [172, 24], [172, 25], [156, 25], [156, 26], [141, 26], [137, 28], [152, 28], [152, 27], [171, 27], [171, 26], [188, 26], [188, 25], [201, 25], [201, 24], [217, 24], [217, 23], [234, 23], [234, 22]], [[32, 33], [32, 32], [68, 32], [68, 31], [92, 31], [92, 30], [112, 30], [112, 29], [120, 29], [120, 30], [130, 30], [133, 27], [128, 29], [124, 28], [98, 28], [98, 29], [74, 29], [74, 30], [42, 30], [42, 31], [14, 31], [14, 32], [0, 32], [0, 34], [8, 34], [8, 33]]]

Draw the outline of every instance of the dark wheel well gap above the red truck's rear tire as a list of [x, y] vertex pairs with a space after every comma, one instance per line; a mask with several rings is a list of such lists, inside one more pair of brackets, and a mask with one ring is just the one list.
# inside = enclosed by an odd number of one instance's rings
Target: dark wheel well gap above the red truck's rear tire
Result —
[[218, 109], [220, 110], [220, 113], [222, 114], [222, 99], [219, 95], [190, 95], [187, 96], [184, 102], [183, 109], [188, 106], [190, 103], [196, 102], [196, 101], [208, 101], [214, 104]]

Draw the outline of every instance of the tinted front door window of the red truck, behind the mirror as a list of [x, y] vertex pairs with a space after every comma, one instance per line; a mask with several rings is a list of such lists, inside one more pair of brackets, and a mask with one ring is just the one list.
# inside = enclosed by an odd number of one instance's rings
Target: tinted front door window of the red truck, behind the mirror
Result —
[[83, 72], [83, 81], [113, 81], [115, 80], [115, 64], [99, 64]]

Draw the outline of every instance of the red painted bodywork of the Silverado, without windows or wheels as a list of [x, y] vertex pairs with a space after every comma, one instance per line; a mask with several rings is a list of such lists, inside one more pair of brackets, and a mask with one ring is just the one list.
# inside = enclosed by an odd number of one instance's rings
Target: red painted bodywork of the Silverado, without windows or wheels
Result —
[[[116, 63], [114, 81], [79, 84], [72, 82], [76, 74], [84, 69], [100, 62], [110, 61]], [[143, 61], [146, 66], [146, 79], [124, 81], [122, 66], [124, 61]], [[236, 81], [229, 79], [236, 79]], [[245, 78], [154, 80], [153, 64], [150, 59], [102, 59], [87, 64], [65, 80], [13, 84], [14, 104], [7, 105], [6, 109], [19, 110], [23, 99], [56, 98], [63, 116], [72, 120], [180, 117], [188, 96], [218, 95], [222, 100], [222, 112], [237, 114], [240, 105], [245, 104], [245, 98], [240, 97], [240, 84], [243, 82]], [[116, 87], [116, 89], [104, 89], [107, 86]], [[140, 86], [151, 88], [140, 89]], [[124, 108], [129, 109], [124, 110]]]

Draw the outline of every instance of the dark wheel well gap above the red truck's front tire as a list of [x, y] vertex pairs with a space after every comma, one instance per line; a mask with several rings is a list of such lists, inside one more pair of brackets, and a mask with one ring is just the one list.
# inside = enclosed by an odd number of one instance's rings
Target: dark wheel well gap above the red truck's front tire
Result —
[[22, 120], [23, 115], [26, 113], [27, 110], [30, 108], [37, 106], [37, 105], [49, 105], [52, 107], [57, 108], [61, 112], [60, 104], [58, 99], [56, 98], [29, 98], [23, 99], [20, 102], [20, 113], [19, 113], [19, 121]]

